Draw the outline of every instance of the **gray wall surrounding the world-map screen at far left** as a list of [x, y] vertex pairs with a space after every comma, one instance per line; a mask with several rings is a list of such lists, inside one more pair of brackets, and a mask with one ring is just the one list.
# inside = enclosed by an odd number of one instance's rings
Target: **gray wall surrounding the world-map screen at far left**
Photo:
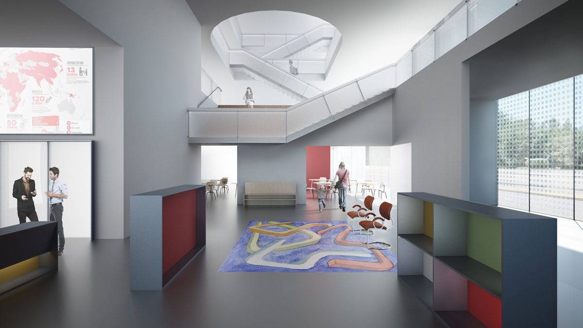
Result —
[[[0, 31], [2, 31], [0, 33], [2, 47], [95, 47], [94, 135], [3, 135], [0, 139], [94, 140], [94, 175], [96, 177], [94, 235], [96, 238], [122, 238], [124, 236], [122, 221], [124, 171], [121, 160], [124, 156], [123, 48], [57, 0], [2, 2]], [[66, 180], [74, 178], [67, 176], [66, 172], [61, 172], [61, 175]], [[115, 183], [112, 184], [112, 182]], [[74, 197], [73, 194], [71, 196]], [[65, 211], [64, 219], [66, 222], [74, 218], [68, 218]]]

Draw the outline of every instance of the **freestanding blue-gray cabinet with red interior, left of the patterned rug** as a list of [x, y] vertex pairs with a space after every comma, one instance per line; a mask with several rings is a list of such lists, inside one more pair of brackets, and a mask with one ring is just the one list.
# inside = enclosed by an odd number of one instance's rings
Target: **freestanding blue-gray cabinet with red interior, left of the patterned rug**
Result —
[[130, 289], [162, 289], [206, 244], [205, 186], [129, 198]]

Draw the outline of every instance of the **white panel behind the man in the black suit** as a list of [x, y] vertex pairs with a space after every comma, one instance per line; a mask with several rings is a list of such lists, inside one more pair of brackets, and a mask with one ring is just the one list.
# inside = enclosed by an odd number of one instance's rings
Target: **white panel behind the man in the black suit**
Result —
[[24, 175], [26, 166], [33, 169], [38, 219], [47, 221], [47, 198], [43, 194], [48, 190], [47, 142], [0, 142], [0, 228], [19, 223], [12, 187]]

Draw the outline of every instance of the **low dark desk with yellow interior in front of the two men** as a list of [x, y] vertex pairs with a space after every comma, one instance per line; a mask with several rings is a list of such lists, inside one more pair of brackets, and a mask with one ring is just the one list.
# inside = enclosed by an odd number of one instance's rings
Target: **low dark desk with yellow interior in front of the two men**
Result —
[[56, 271], [57, 222], [0, 228], [0, 294]]

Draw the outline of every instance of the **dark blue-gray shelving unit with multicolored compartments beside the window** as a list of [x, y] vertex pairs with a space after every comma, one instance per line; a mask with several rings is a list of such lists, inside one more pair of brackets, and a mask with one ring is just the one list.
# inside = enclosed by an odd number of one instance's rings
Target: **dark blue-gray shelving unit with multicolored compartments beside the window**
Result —
[[450, 327], [557, 324], [556, 219], [398, 194], [398, 275]]

